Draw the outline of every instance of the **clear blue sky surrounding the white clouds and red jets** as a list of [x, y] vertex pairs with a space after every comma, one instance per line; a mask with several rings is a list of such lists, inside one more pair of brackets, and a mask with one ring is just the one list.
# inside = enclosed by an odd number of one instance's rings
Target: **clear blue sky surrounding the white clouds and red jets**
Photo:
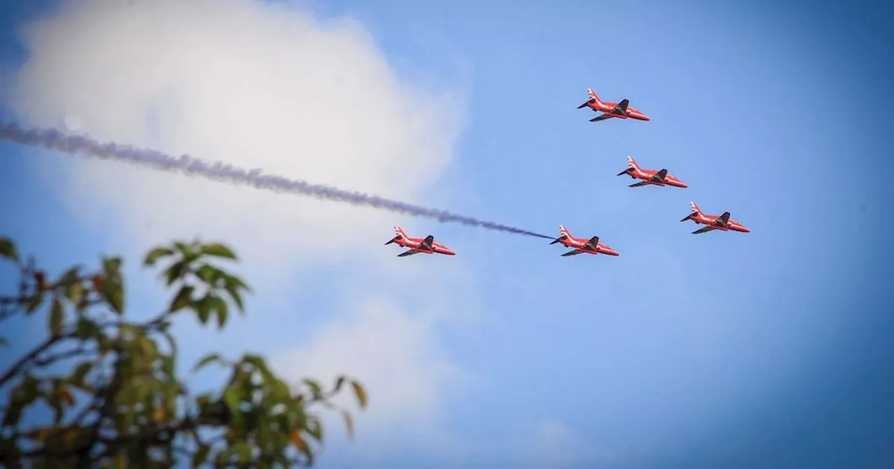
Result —
[[[462, 465], [526, 465], [512, 448], [530, 444], [537, 422], [560, 422], [574, 436], [584, 449], [570, 465], [579, 467], [894, 462], [886, 343], [894, 256], [884, 216], [894, 194], [872, 175], [892, 169], [891, 33], [881, 20], [890, 9], [497, 1], [313, 9], [359, 21], [401, 77], [463, 90], [451, 162], [410, 202], [450, 200], [443, 208], [544, 233], [562, 223], [620, 252], [562, 258], [544, 239], [406, 221], [458, 251], [486, 312], [473, 332], [437, 332], [451, 363], [477, 376], [451, 394], [438, 423], [477, 443]], [[23, 58], [10, 29], [38, 10], [9, 13], [0, 15], [0, 59], [14, 72]], [[627, 97], [652, 121], [587, 122], [595, 114], [575, 109], [586, 88]], [[12, 201], [0, 206], [4, 234], [56, 269], [109, 250], [116, 212], [85, 223], [34, 155], [0, 145], [0, 190]], [[626, 155], [668, 168], [689, 188], [627, 188], [630, 180], [614, 176]], [[690, 235], [695, 225], [678, 222], [690, 200], [707, 213], [730, 211], [752, 232]], [[390, 230], [382, 228], [383, 242]], [[366, 271], [349, 260], [301, 278], [324, 289], [324, 274], [357, 272]], [[316, 324], [342, 300], [332, 292], [290, 301], [319, 311], [302, 318]], [[291, 325], [269, 317], [274, 324], [245, 327], [274, 334], [275, 322]], [[440, 459], [410, 440], [382, 451], [359, 466]], [[606, 453], [611, 460], [600, 459]]]

